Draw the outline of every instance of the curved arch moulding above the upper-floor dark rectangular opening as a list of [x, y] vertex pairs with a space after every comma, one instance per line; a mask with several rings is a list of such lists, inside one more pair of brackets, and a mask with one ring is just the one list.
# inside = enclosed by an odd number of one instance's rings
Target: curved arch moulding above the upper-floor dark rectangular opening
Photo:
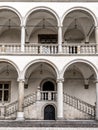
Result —
[[54, 10], [52, 10], [52, 9], [49, 8], [49, 7], [39, 6], [39, 7], [36, 7], [36, 8], [31, 9], [31, 10], [26, 14], [25, 19], [24, 19], [24, 25], [25, 25], [25, 26], [26, 26], [27, 19], [28, 19], [29, 15], [30, 15], [31, 13], [33, 13], [34, 11], [37, 11], [37, 10], [47, 10], [47, 11], [49, 11], [50, 13], [52, 13], [52, 14], [55, 16], [58, 25], [60, 25], [60, 18], [59, 18], [59, 16], [57, 15], [57, 13], [56, 13]]

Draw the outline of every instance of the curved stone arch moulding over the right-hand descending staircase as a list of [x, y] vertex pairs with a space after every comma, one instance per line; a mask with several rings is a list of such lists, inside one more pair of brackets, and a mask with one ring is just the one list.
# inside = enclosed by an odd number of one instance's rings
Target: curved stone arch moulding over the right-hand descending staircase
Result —
[[96, 74], [96, 78], [98, 79], [98, 70], [97, 70], [96, 66], [94, 64], [92, 64], [90, 61], [87, 61], [84, 59], [73, 60], [73, 61], [69, 62], [67, 65], [65, 65], [61, 71], [61, 77], [64, 77], [64, 73], [70, 65], [77, 63], [77, 62], [82, 62], [82, 63], [86, 63], [87, 65], [89, 65], [94, 70], [94, 72]]

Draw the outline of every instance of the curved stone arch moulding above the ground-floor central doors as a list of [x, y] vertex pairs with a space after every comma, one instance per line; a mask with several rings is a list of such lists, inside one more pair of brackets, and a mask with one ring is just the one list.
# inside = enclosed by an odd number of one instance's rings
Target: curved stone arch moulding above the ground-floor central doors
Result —
[[57, 66], [56, 66], [54, 63], [52, 63], [51, 61], [46, 60], [46, 59], [37, 59], [37, 60], [34, 60], [34, 61], [30, 61], [30, 62], [25, 66], [25, 68], [23, 69], [23, 73], [22, 73], [23, 79], [25, 79], [25, 75], [26, 75], [27, 69], [28, 69], [31, 65], [33, 65], [33, 64], [35, 64], [35, 63], [38, 63], [38, 62], [43, 62], [43, 63], [49, 64], [49, 65], [55, 70], [57, 78], [59, 77], [59, 70], [58, 70]]

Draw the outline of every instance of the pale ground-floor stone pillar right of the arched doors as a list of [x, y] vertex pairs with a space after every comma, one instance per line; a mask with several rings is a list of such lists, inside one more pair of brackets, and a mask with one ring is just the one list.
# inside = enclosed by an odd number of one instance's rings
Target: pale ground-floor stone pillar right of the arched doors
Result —
[[57, 119], [64, 119], [63, 113], [63, 79], [57, 80]]

